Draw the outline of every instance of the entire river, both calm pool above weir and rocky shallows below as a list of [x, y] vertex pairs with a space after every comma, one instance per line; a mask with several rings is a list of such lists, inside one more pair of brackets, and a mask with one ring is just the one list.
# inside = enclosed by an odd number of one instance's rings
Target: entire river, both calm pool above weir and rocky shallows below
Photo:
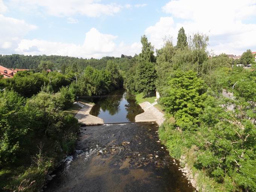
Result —
[[[125, 95], [118, 98], [119, 102], [112, 98], [110, 103], [109, 98], [100, 99], [96, 110], [98, 117], [111, 123], [134, 122], [134, 113], [143, 110], [136, 111], [135, 100], [126, 98]], [[111, 103], [114, 109], [103, 107]], [[158, 126], [152, 123], [81, 127], [76, 152], [54, 173], [56, 177], [46, 191], [194, 191], [178, 171], [178, 165], [172, 163], [165, 146], [157, 142], [157, 130]]]

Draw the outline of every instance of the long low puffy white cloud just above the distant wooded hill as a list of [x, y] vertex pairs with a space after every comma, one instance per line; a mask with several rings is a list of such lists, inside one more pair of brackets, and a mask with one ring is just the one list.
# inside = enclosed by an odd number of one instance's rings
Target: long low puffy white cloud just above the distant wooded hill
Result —
[[24, 55], [68, 55], [82, 58], [102, 58], [102, 56], [120, 56], [121, 54], [134, 55], [141, 50], [140, 43], [131, 46], [120, 43], [116, 45], [117, 36], [102, 34], [91, 28], [85, 34], [83, 44], [69, 44], [45, 40], [21, 40], [17, 53]]

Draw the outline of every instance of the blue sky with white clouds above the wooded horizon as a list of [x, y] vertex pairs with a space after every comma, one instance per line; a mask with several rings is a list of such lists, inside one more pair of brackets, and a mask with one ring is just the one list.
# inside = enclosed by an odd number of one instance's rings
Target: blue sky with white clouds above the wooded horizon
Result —
[[101, 58], [155, 49], [180, 27], [212, 54], [256, 51], [256, 0], [0, 0], [0, 54]]

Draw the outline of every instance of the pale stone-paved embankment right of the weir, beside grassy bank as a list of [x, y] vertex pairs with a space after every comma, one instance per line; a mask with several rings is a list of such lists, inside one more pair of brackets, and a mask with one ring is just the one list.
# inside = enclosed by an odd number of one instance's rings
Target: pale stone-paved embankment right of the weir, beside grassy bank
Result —
[[157, 102], [153, 104], [147, 101], [140, 103], [139, 105], [144, 110], [144, 113], [138, 114], [135, 117], [135, 122], [156, 122], [158, 125], [161, 125], [165, 120], [164, 114], [154, 107], [155, 104], [157, 104]]

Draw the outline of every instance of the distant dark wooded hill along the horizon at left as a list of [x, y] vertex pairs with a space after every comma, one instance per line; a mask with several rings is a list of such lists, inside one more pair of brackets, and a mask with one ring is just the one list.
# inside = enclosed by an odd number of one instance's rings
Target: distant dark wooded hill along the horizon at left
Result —
[[[92, 66], [96, 69], [104, 69], [107, 66], [107, 61], [112, 60], [118, 64], [118, 67], [125, 72], [128, 71], [134, 63], [132, 56], [126, 56], [124, 58], [103, 57], [101, 59], [83, 59], [69, 56], [57, 56], [57, 55], [0, 55], [0, 64], [8, 68], [18, 69], [35, 69], [37, 72], [48, 69], [61, 70], [61, 73], [81, 73], [87, 66]], [[41, 69], [38, 67], [40, 62], [43, 62]], [[47, 66], [47, 64], [50, 64]], [[53, 66], [52, 66], [53, 64]]]

